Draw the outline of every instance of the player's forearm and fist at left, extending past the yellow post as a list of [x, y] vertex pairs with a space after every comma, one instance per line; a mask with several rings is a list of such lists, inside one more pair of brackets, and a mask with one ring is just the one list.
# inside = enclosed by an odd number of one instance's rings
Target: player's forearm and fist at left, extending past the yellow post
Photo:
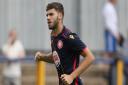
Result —
[[37, 52], [35, 55], [35, 60], [36, 61], [45, 61], [48, 63], [54, 63], [53, 57], [52, 57], [52, 52], [50, 53], [41, 53], [41, 52]]

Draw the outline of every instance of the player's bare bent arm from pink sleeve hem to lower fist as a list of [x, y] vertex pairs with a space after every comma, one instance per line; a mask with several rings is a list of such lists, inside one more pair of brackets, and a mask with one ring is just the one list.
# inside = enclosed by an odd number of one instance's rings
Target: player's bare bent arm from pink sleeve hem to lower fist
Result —
[[83, 57], [86, 57], [81, 64], [79, 65], [79, 67], [74, 70], [70, 75], [67, 74], [63, 74], [61, 76], [61, 79], [68, 85], [71, 84], [73, 82], [73, 80], [78, 77], [81, 73], [83, 73], [84, 71], [87, 70], [87, 68], [92, 64], [92, 62], [95, 60], [94, 55], [92, 54], [92, 52], [88, 49], [85, 48], [81, 55]]

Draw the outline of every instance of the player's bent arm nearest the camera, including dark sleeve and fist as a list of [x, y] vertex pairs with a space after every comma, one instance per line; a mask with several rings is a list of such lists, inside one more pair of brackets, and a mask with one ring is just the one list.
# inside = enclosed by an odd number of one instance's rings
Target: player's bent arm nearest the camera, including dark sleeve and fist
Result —
[[78, 77], [81, 73], [86, 71], [86, 69], [95, 60], [95, 57], [92, 54], [92, 52], [88, 49], [88, 47], [80, 40], [80, 38], [76, 34], [69, 35], [68, 43], [73, 51], [78, 52], [80, 55], [85, 57], [84, 60], [80, 63], [79, 67], [76, 68], [70, 75], [63, 74], [61, 76], [61, 79], [66, 84], [71, 84], [76, 77]]

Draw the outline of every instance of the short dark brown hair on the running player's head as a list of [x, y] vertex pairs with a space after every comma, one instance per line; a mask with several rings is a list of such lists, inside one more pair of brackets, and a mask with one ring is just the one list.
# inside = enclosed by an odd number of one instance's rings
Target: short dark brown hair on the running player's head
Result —
[[62, 13], [62, 15], [64, 16], [64, 7], [61, 3], [59, 3], [59, 2], [49, 3], [47, 5], [46, 11], [48, 11], [50, 9], [55, 9], [56, 11]]

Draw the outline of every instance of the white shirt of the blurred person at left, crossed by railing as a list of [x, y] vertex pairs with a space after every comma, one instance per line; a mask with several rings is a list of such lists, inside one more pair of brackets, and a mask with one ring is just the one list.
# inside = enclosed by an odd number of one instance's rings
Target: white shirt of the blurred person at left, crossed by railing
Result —
[[[20, 58], [20, 52], [24, 51], [23, 45], [19, 40], [16, 40], [15, 43], [10, 46], [5, 44], [3, 47], [3, 53], [6, 55], [6, 58], [9, 60], [15, 60]], [[20, 77], [21, 76], [21, 65], [20, 62], [11, 62], [7, 63], [4, 66], [3, 74], [6, 77]]]

